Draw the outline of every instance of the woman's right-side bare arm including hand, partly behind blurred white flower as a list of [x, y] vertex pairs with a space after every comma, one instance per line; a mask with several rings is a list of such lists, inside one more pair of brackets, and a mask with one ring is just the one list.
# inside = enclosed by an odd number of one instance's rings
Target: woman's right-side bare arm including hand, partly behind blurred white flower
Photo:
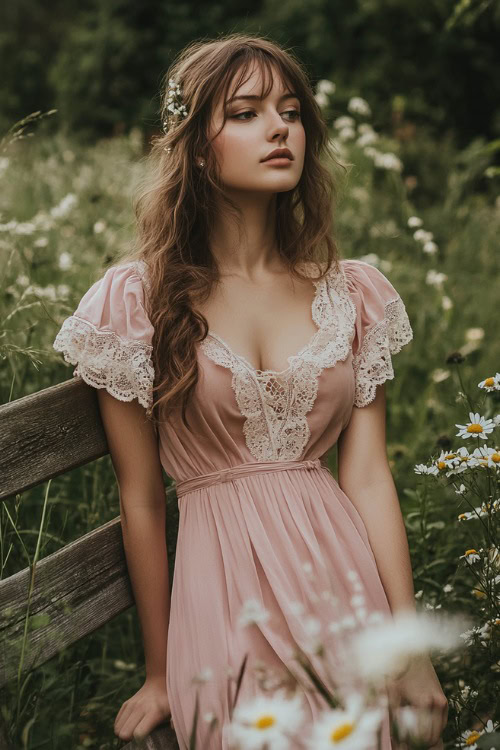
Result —
[[[375, 399], [354, 407], [337, 442], [339, 486], [365, 524], [391, 612], [415, 612], [413, 573], [399, 499], [387, 461], [385, 385]], [[391, 707], [409, 702], [428, 711], [426, 738], [430, 750], [442, 750], [440, 739], [448, 702], [430, 658], [424, 655], [398, 680], [388, 681]], [[435, 744], [437, 743], [437, 744]]]

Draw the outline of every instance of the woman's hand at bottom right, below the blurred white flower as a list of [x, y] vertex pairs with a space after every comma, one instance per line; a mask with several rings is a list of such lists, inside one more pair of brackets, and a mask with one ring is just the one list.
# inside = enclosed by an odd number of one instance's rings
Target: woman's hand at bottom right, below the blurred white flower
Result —
[[448, 721], [448, 701], [441, 688], [429, 657], [412, 660], [410, 667], [399, 678], [387, 680], [389, 710], [409, 705], [424, 721], [421, 739], [428, 743], [429, 750], [442, 750], [441, 734]]

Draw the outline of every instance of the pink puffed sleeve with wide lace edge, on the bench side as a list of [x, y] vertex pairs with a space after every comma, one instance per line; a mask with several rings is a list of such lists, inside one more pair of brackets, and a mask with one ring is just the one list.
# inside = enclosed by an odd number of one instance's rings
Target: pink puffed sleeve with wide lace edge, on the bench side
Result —
[[108, 268], [63, 322], [52, 346], [94, 388], [120, 401], [153, 404], [154, 329], [136, 262]]

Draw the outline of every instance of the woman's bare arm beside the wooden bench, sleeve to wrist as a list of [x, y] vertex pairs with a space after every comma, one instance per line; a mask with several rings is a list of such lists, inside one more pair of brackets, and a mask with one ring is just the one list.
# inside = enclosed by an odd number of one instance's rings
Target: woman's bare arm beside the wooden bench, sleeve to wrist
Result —
[[158, 443], [137, 400], [97, 391], [120, 490], [128, 572], [144, 641], [146, 678], [165, 683], [170, 594], [165, 536], [165, 487]]

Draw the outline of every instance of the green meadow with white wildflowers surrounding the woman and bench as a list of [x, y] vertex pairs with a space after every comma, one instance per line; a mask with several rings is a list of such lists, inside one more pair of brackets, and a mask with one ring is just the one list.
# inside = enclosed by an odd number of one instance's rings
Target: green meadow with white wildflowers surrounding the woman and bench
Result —
[[[333, 91], [329, 81], [318, 85], [326, 114]], [[476, 140], [457, 151], [451, 136], [437, 142], [397, 118], [390, 135], [378, 133], [361, 98], [331, 121], [347, 167], [345, 176], [339, 172], [336, 207], [341, 255], [388, 276], [414, 333], [387, 383], [387, 451], [418, 609], [470, 619], [454, 650], [439, 651], [445, 644], [435, 643], [433, 663], [449, 699], [445, 747], [499, 748], [498, 144]], [[27, 125], [24, 135], [32, 137], [11, 133], [0, 144], [2, 403], [71, 377], [73, 367], [52, 342], [103, 267], [130, 242], [134, 188], [145, 169], [138, 129], [82, 147], [50, 128], [37, 131], [36, 118]], [[118, 514], [109, 457], [11, 498], [0, 507], [0, 576], [27, 567], [37, 544], [44, 557]], [[175, 543], [170, 575], [174, 555]], [[430, 638], [422, 648], [432, 644]], [[8, 685], [0, 704], [9, 739], [26, 750], [119, 747], [114, 718], [143, 679], [133, 610]], [[262, 712], [271, 715], [269, 747], [285, 748], [276, 727], [282, 717], [290, 730], [292, 708], [269, 700], [248, 708], [246, 719], [263, 728]], [[357, 721], [353, 711], [332, 708], [314, 747], [362, 750], [361, 731], [354, 744], [334, 731], [346, 717]], [[208, 725], [210, 717], [200, 720]], [[333, 736], [335, 743], [328, 742]], [[241, 748], [257, 747], [254, 736], [238, 737]]]

